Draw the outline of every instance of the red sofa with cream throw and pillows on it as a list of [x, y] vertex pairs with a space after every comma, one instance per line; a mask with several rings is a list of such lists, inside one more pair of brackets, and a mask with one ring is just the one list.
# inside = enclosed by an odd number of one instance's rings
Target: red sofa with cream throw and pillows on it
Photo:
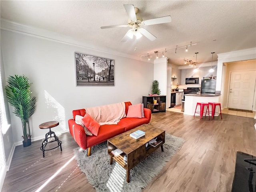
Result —
[[[125, 102], [126, 115], [129, 105], [132, 105], [132, 103]], [[98, 136], [88, 136], [85, 134], [84, 128], [75, 122], [76, 115], [84, 116], [85, 114], [85, 109], [73, 110], [73, 119], [68, 120], [68, 127], [70, 134], [75, 139], [80, 148], [88, 148], [88, 156], [90, 156], [92, 146], [143, 124], [148, 124], [151, 119], [151, 110], [144, 108], [144, 118], [122, 118], [118, 124], [100, 126]]]

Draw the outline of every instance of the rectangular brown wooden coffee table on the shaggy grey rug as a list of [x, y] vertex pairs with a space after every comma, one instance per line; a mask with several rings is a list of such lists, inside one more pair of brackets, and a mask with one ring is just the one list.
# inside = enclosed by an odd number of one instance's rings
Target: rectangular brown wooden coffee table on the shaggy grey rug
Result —
[[[130, 133], [136, 130], [142, 130], [146, 134], [141, 138], [134, 139], [130, 137]], [[146, 143], [153, 138], [158, 138], [162, 140], [162, 143], [158, 146], [150, 146], [146, 149]], [[165, 130], [155, 128], [151, 125], [142, 125], [127, 132], [124, 132], [118, 136], [115, 136], [108, 140], [108, 154], [110, 155], [110, 164], [112, 164], [113, 159], [118, 162], [123, 168], [126, 169], [126, 181], [130, 180], [130, 170], [134, 168], [138, 163], [148, 157], [152, 152], [161, 147], [164, 151], [163, 144], [165, 142]], [[111, 151], [119, 148], [124, 153], [114, 156]], [[124, 156], [127, 155], [127, 163], [124, 162]]]

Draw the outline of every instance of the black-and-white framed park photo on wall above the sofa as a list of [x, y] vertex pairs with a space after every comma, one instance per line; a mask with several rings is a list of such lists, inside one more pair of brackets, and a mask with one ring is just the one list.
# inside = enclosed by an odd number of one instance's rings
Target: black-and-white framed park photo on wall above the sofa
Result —
[[114, 60], [75, 52], [76, 86], [114, 86]]

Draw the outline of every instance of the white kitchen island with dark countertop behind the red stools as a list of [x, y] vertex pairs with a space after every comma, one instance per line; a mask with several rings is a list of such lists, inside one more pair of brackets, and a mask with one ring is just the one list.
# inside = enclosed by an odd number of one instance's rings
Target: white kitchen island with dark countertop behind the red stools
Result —
[[[194, 116], [194, 112], [196, 110], [196, 103], [198, 102], [220, 102], [220, 94], [212, 94], [212, 93], [200, 93], [200, 94], [186, 94], [185, 95], [185, 106], [184, 106], [184, 114]], [[197, 108], [199, 111], [200, 108]], [[212, 109], [210, 109], [211, 111]], [[206, 107], [204, 112], [206, 112]], [[219, 112], [219, 108], [216, 108], [216, 112]], [[195, 114], [199, 116], [199, 114]], [[218, 115], [218, 114], [216, 114]]]

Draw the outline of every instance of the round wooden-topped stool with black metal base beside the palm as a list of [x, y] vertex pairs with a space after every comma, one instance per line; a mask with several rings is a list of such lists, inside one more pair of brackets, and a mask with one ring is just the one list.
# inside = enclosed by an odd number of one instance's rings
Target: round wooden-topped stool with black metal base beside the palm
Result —
[[[42, 142], [42, 147], [40, 147], [40, 150], [43, 151], [43, 157], [44, 157], [44, 151], [49, 151], [49, 150], [55, 149], [59, 146], [60, 146], [60, 150], [62, 151], [62, 148], [61, 148], [62, 142], [59, 140], [59, 138], [56, 136], [56, 134], [51, 130], [52, 127], [56, 127], [58, 125], [59, 125], [58, 121], [49, 121], [49, 122], [45, 122], [45, 123], [42, 123], [39, 125], [40, 129], [50, 129], [49, 132], [46, 133], [46, 135], [45, 135], [45, 139]], [[54, 138], [54, 140], [49, 140], [50, 138]], [[50, 149], [45, 149], [45, 147], [48, 143], [52, 143], [55, 141], [58, 142], [58, 146], [56, 146], [54, 148], [50, 148]]]

